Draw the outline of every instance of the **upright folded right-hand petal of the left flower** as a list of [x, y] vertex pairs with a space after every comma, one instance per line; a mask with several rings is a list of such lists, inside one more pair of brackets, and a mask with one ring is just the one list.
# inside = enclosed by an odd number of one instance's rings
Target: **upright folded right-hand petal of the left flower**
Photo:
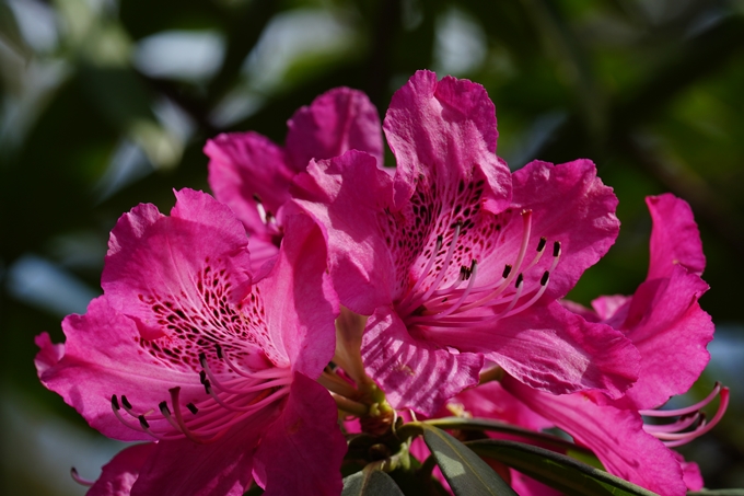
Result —
[[323, 234], [305, 215], [287, 218], [282, 249], [257, 286], [270, 342], [292, 369], [316, 378], [336, 349], [338, 299], [326, 274]]

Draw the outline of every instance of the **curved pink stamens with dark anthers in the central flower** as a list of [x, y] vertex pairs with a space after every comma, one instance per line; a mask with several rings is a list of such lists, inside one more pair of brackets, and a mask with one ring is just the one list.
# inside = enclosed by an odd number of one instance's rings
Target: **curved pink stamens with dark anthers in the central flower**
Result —
[[[478, 262], [460, 267], [460, 274], [451, 282], [452, 265], [457, 242], [463, 229], [462, 222], [452, 226], [452, 234], [445, 246], [444, 235], [437, 238], [429, 261], [414, 287], [396, 304], [398, 314], [407, 325], [434, 327], [468, 327], [495, 323], [532, 307], [548, 287], [550, 274], [560, 259], [560, 242], [553, 243], [553, 263], [539, 278], [532, 274], [546, 251], [548, 240], [540, 238], [536, 254], [526, 262], [527, 245], [532, 230], [532, 211], [522, 212], [522, 240], [512, 263], [505, 264], [499, 279], [484, 280], [478, 277]], [[444, 252], [446, 250], [446, 252]], [[443, 256], [443, 258], [441, 258]], [[442, 259], [441, 265], [435, 264]], [[530, 277], [531, 276], [531, 277]], [[530, 280], [532, 282], [525, 282]], [[428, 286], [426, 282], [431, 281]], [[426, 286], [426, 288], [425, 288]]]

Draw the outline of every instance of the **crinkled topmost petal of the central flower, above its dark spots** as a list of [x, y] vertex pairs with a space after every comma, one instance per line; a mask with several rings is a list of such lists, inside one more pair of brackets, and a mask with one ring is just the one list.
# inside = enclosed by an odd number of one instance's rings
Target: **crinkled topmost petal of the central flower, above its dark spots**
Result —
[[467, 80], [418, 71], [398, 90], [383, 126], [397, 161], [395, 204], [410, 198], [419, 174], [438, 185], [473, 181], [474, 170], [488, 185], [484, 206], [507, 208], [511, 195], [509, 168], [496, 158], [496, 111], [486, 90]]

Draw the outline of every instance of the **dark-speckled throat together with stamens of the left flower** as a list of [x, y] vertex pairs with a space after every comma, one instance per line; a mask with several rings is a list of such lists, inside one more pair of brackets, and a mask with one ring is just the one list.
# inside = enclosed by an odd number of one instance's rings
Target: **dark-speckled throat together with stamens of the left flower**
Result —
[[206, 258], [190, 295], [140, 295], [165, 335], [139, 337], [138, 344], [159, 366], [193, 372], [204, 393], [190, 389], [197, 396], [182, 401], [181, 387], [171, 388], [156, 410], [135, 408], [126, 395], [114, 394], [112, 411], [127, 427], [160, 440], [214, 442], [289, 394], [292, 372], [270, 341], [259, 287], [232, 303], [230, 273], [222, 265], [221, 258]]

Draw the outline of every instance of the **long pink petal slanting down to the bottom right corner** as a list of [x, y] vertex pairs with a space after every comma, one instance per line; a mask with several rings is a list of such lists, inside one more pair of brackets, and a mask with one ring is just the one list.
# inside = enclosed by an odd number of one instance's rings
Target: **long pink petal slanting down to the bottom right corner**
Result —
[[504, 388], [597, 455], [612, 474], [662, 496], [684, 496], [682, 468], [674, 453], [643, 430], [638, 412], [597, 405], [577, 393], [555, 396], [512, 378]]

